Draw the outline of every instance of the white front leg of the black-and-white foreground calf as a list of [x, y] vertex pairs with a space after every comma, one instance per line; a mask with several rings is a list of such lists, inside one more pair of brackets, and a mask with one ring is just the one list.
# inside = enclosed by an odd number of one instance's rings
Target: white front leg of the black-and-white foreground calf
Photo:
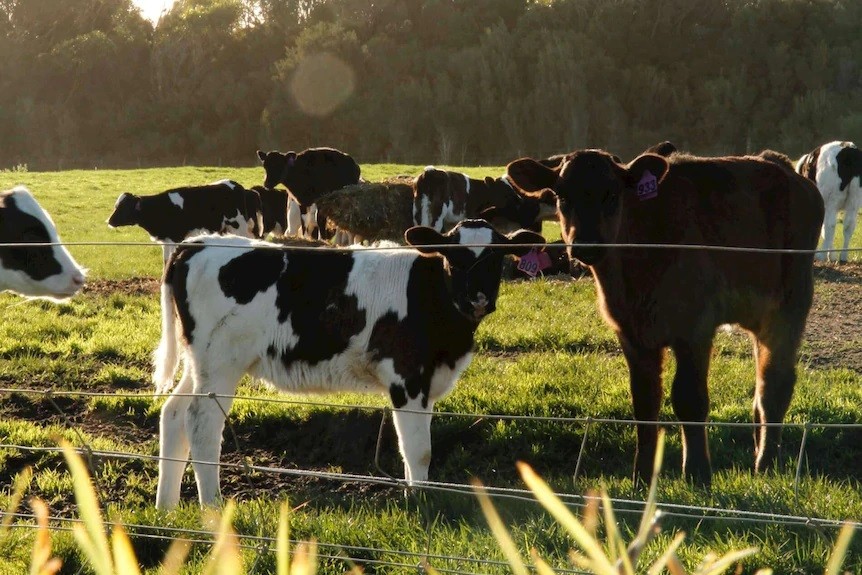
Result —
[[[400, 402], [399, 402], [400, 403]], [[422, 405], [422, 394], [396, 407], [393, 413], [398, 447], [404, 458], [404, 479], [408, 485], [428, 480], [431, 465], [431, 416], [434, 402]]]

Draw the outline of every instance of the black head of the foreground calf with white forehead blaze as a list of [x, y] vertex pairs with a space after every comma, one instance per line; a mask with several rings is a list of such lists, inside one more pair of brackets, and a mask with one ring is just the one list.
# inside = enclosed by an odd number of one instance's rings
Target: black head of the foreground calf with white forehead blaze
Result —
[[[545, 238], [529, 230], [504, 236], [485, 220], [464, 220], [445, 234], [416, 226], [404, 232], [404, 239], [425, 256], [443, 257], [455, 306], [475, 322], [497, 308], [503, 256], [527, 254], [531, 248], [521, 244], [545, 243]], [[489, 244], [494, 245], [480, 247]]]

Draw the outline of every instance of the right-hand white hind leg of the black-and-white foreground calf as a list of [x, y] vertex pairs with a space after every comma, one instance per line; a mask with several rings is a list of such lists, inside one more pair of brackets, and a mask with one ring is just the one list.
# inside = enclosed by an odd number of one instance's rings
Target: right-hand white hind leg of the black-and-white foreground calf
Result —
[[[232, 395], [236, 391], [241, 372], [229, 367], [219, 370], [217, 375], [198, 375], [195, 393]], [[195, 396], [190, 399], [186, 415], [186, 429], [189, 432], [192, 467], [198, 486], [201, 505], [211, 505], [218, 501], [219, 458], [221, 457], [222, 432], [225, 416], [230, 412], [233, 400], [230, 397]]]

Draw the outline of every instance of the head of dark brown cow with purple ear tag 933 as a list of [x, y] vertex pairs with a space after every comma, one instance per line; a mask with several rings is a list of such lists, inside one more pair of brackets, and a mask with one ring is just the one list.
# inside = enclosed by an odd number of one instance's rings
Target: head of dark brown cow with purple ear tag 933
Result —
[[[551, 189], [557, 196], [557, 216], [568, 244], [613, 243], [619, 231], [624, 194], [650, 197], [668, 171], [665, 158], [642, 154], [629, 164], [602, 150], [568, 154], [557, 168], [531, 158], [510, 163], [507, 174], [528, 194]], [[601, 260], [606, 250], [574, 246], [569, 257], [586, 265]]]

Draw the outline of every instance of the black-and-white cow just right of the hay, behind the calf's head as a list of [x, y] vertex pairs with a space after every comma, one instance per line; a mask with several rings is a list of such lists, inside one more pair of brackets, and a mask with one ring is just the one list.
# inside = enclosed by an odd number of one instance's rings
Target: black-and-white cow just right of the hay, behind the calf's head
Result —
[[427, 166], [413, 181], [413, 223], [438, 232], [468, 218], [484, 218], [498, 229], [542, 229], [556, 218], [552, 194], [524, 196], [506, 179], [474, 179], [460, 172]]

